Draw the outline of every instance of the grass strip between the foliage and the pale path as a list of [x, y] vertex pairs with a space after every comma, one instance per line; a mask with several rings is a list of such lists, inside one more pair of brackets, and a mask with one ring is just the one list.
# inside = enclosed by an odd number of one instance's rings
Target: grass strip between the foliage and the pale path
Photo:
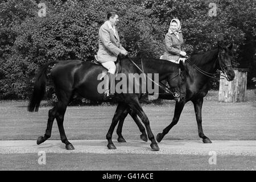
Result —
[[[215, 97], [209, 94], [209, 97]], [[40, 107], [38, 113], [27, 111], [26, 101], [0, 102], [0, 140], [36, 140], [46, 130], [48, 110]], [[174, 101], [163, 105], [143, 105], [150, 119], [153, 133], [162, 132], [174, 115]], [[64, 118], [68, 139], [105, 139], [116, 106], [69, 106]], [[222, 103], [205, 100], [203, 105], [203, 129], [205, 135], [216, 140], [255, 140], [256, 101]], [[139, 129], [128, 116], [123, 125], [126, 139], [139, 139]], [[56, 121], [53, 123], [51, 139], [60, 139]], [[113, 138], [117, 138], [114, 133]], [[164, 139], [200, 139], [192, 102], [188, 102], [181, 113], [179, 123]]]

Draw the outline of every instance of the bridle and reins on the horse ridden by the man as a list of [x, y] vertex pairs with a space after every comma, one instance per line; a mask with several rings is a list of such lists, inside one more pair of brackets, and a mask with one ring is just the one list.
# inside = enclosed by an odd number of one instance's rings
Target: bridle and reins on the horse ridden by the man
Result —
[[[142, 69], [139, 68], [139, 66], [138, 66], [136, 63], [134, 63], [134, 61], [131, 60], [130, 57], [128, 57], [128, 59], [131, 61], [131, 63], [133, 63], [133, 64], [135, 65], [135, 67], [137, 67], [137, 68], [139, 69], [139, 71], [141, 71], [141, 72], [143, 73], [145, 79], [148, 78], [148, 80], [154, 82], [154, 84], [156, 84], [156, 85], [158, 85], [160, 88], [162, 88], [162, 89], [166, 92], [166, 93], [164, 93], [164, 94], [172, 94], [172, 96], [174, 96], [174, 97], [180, 97], [180, 93], [185, 94], [185, 93], [183, 93], [183, 92], [180, 92], [180, 89], [179, 89], [179, 85], [180, 85], [180, 73], [181, 73], [180, 68], [179, 68], [179, 73], [177, 73], [174, 77], [172, 77], [172, 78], [170, 79], [170, 80], [172, 80], [172, 79], [174, 79], [175, 77], [179, 76], [179, 77], [178, 77], [178, 83], [177, 83], [178, 86], [177, 86], [177, 87], [174, 87], [174, 88], [176, 88], [176, 89], [174, 89], [173, 87], [166, 86], [166, 85], [163, 84], [161, 81], [159, 81], [159, 84], [158, 84], [157, 82], [155, 82], [155, 81], [152, 80], [151, 78], [147, 77], [147, 75], [144, 73], [143, 60], [142, 60], [142, 58], [141, 58], [141, 67], [142, 67]], [[160, 94], [160, 93], [158, 93], [158, 94]]]

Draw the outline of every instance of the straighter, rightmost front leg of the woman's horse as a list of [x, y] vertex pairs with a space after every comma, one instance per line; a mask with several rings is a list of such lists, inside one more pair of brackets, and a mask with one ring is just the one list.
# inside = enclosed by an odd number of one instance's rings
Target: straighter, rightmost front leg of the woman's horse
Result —
[[202, 106], [203, 106], [204, 98], [197, 98], [197, 100], [193, 100], [195, 114], [196, 114], [196, 122], [198, 127], [199, 137], [203, 139], [204, 143], [212, 143], [212, 141], [204, 135], [203, 127], [202, 127]]

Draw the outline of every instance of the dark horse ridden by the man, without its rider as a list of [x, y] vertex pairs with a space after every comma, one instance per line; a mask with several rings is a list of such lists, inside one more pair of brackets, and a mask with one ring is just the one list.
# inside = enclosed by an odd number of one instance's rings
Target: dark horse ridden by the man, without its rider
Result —
[[[135, 67], [131, 61], [141, 65], [141, 68], [143, 68], [146, 73], [158, 73], [159, 81], [167, 80], [171, 87], [180, 89], [180, 100], [185, 99], [185, 79], [187, 77], [187, 72], [185, 71], [183, 63], [177, 65], [166, 60], [149, 58], [130, 59], [126, 57], [120, 60], [121, 73], [125, 74], [126, 76], [129, 75], [129, 73], [141, 73], [138, 67]], [[53, 64], [55, 65], [51, 69], [50, 73], [47, 74], [49, 66]], [[44, 134], [44, 137], [38, 138], [37, 144], [43, 143], [49, 137], [51, 137], [52, 123], [56, 118], [61, 142], [65, 143], [67, 150], [74, 149], [73, 145], [68, 141], [63, 127], [65, 111], [69, 102], [72, 101], [75, 95], [80, 95], [94, 101], [106, 101], [104, 94], [99, 93], [97, 88], [97, 86], [102, 82], [102, 80], [98, 80], [97, 77], [104, 71], [106, 71], [106, 69], [101, 65], [80, 60], [51, 61], [43, 65], [38, 72], [38, 75], [35, 77], [34, 91], [28, 105], [28, 111], [38, 111], [40, 101], [44, 97], [48, 75], [51, 76], [53, 85], [55, 86], [58, 101], [55, 106], [49, 110], [46, 133]], [[179, 76], [175, 77], [174, 75], [177, 73], [179, 73]], [[131, 82], [129, 76], [126, 78], [127, 82]], [[134, 84], [133, 81], [132, 84]], [[159, 147], [151, 131], [147, 115], [144, 113], [142, 106], [139, 103], [139, 98], [142, 95], [141, 85], [139, 86], [139, 93], [126, 92], [115, 94], [115, 100], [119, 102], [119, 105], [118, 112], [114, 115], [112, 125], [114, 125], [115, 122], [118, 122], [115, 121], [115, 118], [119, 118], [119, 116], [123, 113], [123, 110], [125, 110], [126, 105], [128, 105], [135, 111], [146, 126], [148, 138], [151, 140], [150, 146], [152, 150], [158, 151]], [[108, 139], [108, 148], [110, 149], [115, 148], [112, 142], [113, 130], [110, 128], [108, 134], [106, 135], [106, 139]]]

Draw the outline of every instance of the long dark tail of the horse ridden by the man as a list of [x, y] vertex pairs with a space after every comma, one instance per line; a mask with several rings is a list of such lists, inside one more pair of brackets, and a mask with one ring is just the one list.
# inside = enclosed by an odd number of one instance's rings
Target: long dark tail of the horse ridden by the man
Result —
[[32, 96], [30, 98], [30, 103], [27, 106], [27, 110], [30, 112], [37, 112], [40, 102], [44, 97], [44, 93], [46, 92], [46, 72], [48, 66], [51, 64], [58, 63], [59, 61], [50, 61], [43, 65], [43, 67], [39, 70], [38, 74], [35, 76], [35, 84]]

